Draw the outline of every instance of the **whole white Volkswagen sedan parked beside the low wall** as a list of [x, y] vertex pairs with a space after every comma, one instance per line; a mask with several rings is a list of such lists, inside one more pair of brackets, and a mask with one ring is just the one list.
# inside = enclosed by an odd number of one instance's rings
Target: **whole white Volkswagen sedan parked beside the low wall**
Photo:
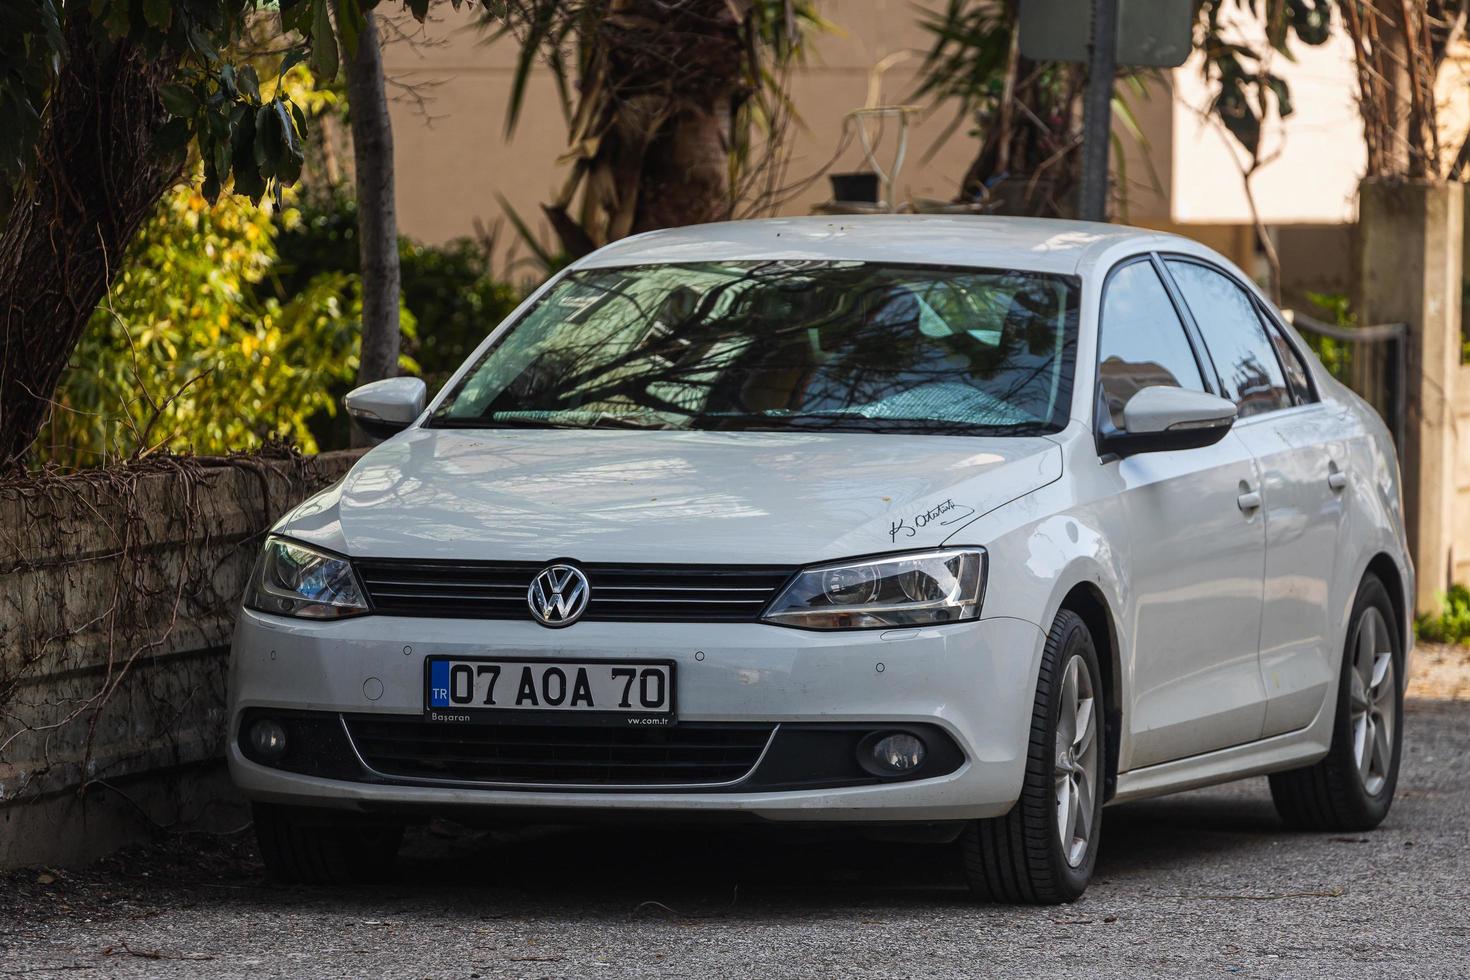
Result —
[[[426, 325], [432, 329], [432, 325]], [[1060, 902], [1102, 805], [1394, 796], [1394, 447], [1183, 238], [1000, 217], [639, 235], [566, 269], [265, 544], [229, 765], [268, 867], [403, 826], [694, 818], [957, 842]]]

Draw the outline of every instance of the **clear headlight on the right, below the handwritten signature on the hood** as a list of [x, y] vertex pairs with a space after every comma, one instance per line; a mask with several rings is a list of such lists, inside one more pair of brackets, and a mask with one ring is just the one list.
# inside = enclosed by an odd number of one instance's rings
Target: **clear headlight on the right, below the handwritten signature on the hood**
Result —
[[803, 570], [763, 617], [804, 629], [932, 626], [979, 619], [985, 550], [944, 548]]

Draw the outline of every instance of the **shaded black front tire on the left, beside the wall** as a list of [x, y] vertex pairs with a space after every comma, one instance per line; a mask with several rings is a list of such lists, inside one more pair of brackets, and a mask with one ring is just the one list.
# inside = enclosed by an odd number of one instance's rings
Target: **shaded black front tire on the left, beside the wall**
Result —
[[282, 884], [365, 884], [392, 873], [403, 827], [328, 811], [254, 804], [256, 843], [266, 874]]

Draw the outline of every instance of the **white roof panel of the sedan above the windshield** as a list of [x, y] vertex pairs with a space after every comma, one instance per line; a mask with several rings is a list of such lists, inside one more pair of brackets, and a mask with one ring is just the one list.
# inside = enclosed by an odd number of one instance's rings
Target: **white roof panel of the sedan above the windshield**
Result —
[[[1113, 245], [1185, 244], [1175, 235], [1053, 217], [856, 215], [767, 217], [669, 228], [598, 248], [578, 267], [675, 262], [850, 260], [1086, 275]], [[1191, 248], [1194, 250], [1194, 248]]]

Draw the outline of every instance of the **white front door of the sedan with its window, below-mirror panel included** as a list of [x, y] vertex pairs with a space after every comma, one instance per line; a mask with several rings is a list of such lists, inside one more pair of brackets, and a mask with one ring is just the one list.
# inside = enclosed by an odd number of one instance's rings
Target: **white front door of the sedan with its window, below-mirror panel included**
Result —
[[[1120, 428], [1139, 388], [1216, 391], [1150, 257], [1113, 270], [1098, 335], [1098, 426]], [[1126, 529], [1132, 702], [1129, 768], [1260, 736], [1257, 657], [1266, 536], [1251, 495], [1255, 460], [1233, 433], [1211, 447], [1104, 458]], [[1244, 505], [1242, 505], [1244, 500]]]

